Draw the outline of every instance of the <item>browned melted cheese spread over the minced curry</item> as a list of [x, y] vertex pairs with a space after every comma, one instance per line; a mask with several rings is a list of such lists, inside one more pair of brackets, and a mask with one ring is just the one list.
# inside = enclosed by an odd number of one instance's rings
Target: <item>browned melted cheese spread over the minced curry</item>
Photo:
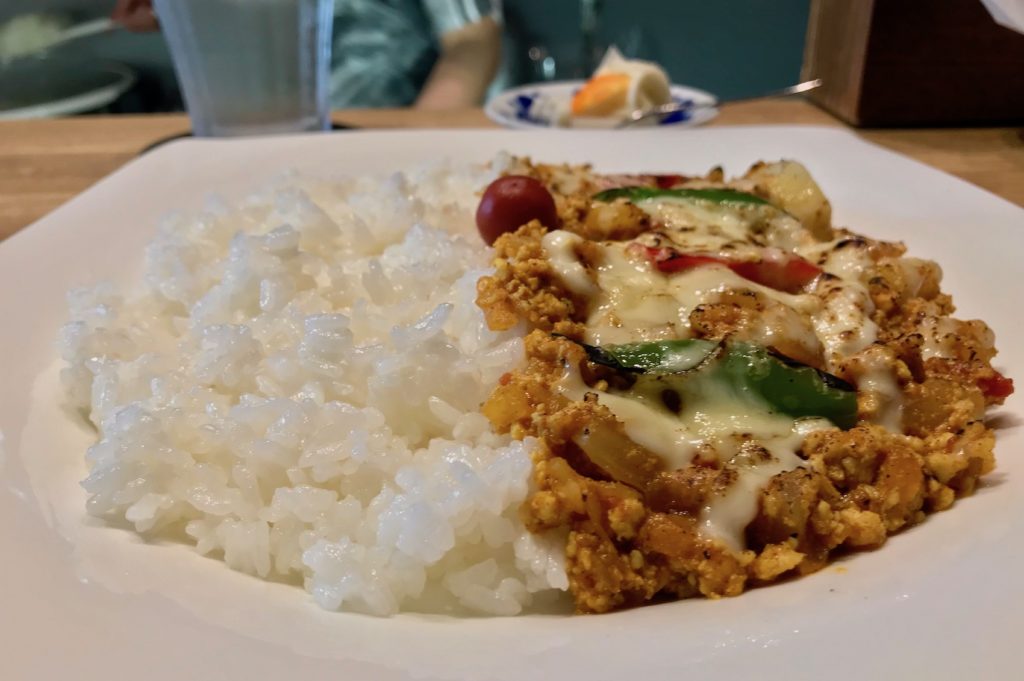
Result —
[[[589, 301], [589, 343], [687, 338], [692, 335], [689, 316], [693, 309], [729, 290], [753, 291], [790, 308], [766, 308], [758, 342], [782, 345], [790, 341], [791, 347], [796, 342], [815, 355], [823, 351], [824, 364], [833, 371], [877, 340], [878, 327], [870, 318], [874, 308], [866, 287], [874, 263], [865, 243], [847, 239], [820, 244], [799, 221], [756, 206], [664, 198], [637, 205], [662, 225], [657, 231], [641, 235], [636, 240], [641, 245], [656, 248], [667, 245], [667, 240], [683, 252], [727, 257], [744, 253], [763, 257], [770, 255], [766, 247], [777, 247], [818, 263], [834, 276], [819, 279], [812, 294], [790, 295], [719, 265], [666, 275], [632, 244], [622, 242], [600, 244], [601, 260], [588, 270], [577, 256], [580, 238], [552, 232], [544, 241], [549, 258], [566, 288]], [[936, 332], [931, 345], [926, 339], [925, 352], [931, 356], [942, 352], [938, 341], [942, 334]], [[860, 389], [874, 394], [881, 406], [877, 422], [898, 431], [902, 394], [891, 363], [880, 356], [859, 367]], [[744, 548], [744, 530], [757, 515], [764, 486], [773, 476], [803, 465], [797, 452], [808, 432], [833, 426], [826, 419], [777, 414], [759, 397], [701, 374], [681, 384], [678, 414], [666, 408], [658, 390], [645, 393], [637, 386], [626, 393], [597, 391], [586, 386], [578, 372], [566, 371], [557, 388], [571, 399], [595, 393], [630, 439], [659, 457], [669, 470], [689, 465], [697, 452], [701, 457], [713, 453], [731, 468], [735, 480], [707, 501], [699, 521], [705, 534], [737, 552]], [[751, 456], [752, 451], [760, 454]]]

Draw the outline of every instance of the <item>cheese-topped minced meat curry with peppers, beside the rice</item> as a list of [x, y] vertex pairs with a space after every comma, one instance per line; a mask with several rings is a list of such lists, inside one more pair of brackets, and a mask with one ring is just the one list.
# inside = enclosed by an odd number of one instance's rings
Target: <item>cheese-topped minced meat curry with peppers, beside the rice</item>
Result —
[[[527, 360], [483, 413], [540, 442], [522, 513], [566, 533], [580, 611], [812, 572], [992, 470], [985, 410], [1013, 384], [991, 331], [951, 316], [935, 263], [834, 227], [800, 164], [507, 175], [534, 196], [478, 213], [477, 304]], [[555, 210], [496, 230], [503, 201]]]

